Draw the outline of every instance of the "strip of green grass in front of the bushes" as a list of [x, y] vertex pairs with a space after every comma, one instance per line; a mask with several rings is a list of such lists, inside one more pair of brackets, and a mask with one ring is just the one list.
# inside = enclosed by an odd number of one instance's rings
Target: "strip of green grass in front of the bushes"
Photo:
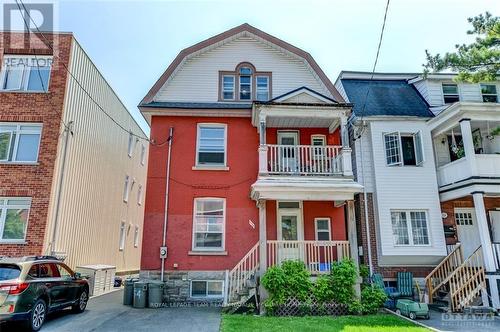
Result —
[[425, 328], [393, 315], [341, 317], [266, 317], [252, 315], [222, 316], [222, 332], [240, 331], [345, 331], [345, 332], [423, 332]]

